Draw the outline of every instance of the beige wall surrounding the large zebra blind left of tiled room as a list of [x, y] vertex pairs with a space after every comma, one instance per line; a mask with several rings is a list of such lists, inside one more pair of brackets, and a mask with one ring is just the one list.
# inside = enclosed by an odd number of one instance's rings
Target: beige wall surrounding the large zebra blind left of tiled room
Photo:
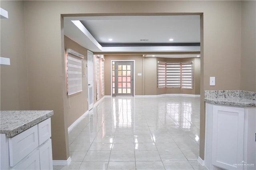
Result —
[[[82, 59], [83, 63], [87, 63], [87, 49], [79, 45], [78, 43], [74, 42], [68, 37], [64, 37], [64, 47], [65, 49], [70, 48], [74, 51], [84, 55], [84, 59]], [[66, 62], [65, 62], [66, 63]], [[87, 69], [86, 69], [87, 74]], [[80, 116], [82, 116], [87, 110], [88, 110], [88, 89], [87, 89], [87, 78], [84, 75], [82, 77], [82, 92], [76, 93], [74, 95], [66, 95], [66, 101], [65, 105], [69, 105], [70, 108], [68, 108], [68, 115], [67, 116], [67, 126], [69, 127], [78, 119]]]

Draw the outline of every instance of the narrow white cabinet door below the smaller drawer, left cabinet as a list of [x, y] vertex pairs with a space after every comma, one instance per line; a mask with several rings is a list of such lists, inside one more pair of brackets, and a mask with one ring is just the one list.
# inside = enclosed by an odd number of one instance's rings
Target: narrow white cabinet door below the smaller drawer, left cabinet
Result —
[[52, 140], [49, 139], [39, 148], [40, 153], [40, 169], [52, 170]]

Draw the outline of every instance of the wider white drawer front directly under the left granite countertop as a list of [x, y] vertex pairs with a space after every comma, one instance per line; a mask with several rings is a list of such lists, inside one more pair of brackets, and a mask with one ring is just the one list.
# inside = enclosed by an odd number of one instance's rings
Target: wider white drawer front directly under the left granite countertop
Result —
[[38, 147], [37, 125], [9, 138], [10, 166], [16, 165]]

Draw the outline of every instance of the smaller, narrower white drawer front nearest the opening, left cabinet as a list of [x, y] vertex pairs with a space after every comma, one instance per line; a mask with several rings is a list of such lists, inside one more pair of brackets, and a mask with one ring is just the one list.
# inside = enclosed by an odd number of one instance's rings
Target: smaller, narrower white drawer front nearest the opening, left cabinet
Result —
[[39, 145], [51, 137], [51, 118], [38, 124]]

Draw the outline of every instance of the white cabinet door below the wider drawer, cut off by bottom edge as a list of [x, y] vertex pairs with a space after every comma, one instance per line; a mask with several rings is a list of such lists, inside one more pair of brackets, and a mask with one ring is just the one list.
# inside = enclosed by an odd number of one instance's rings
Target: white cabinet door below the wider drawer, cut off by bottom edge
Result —
[[40, 170], [39, 151], [35, 150], [19, 162], [12, 170]]

